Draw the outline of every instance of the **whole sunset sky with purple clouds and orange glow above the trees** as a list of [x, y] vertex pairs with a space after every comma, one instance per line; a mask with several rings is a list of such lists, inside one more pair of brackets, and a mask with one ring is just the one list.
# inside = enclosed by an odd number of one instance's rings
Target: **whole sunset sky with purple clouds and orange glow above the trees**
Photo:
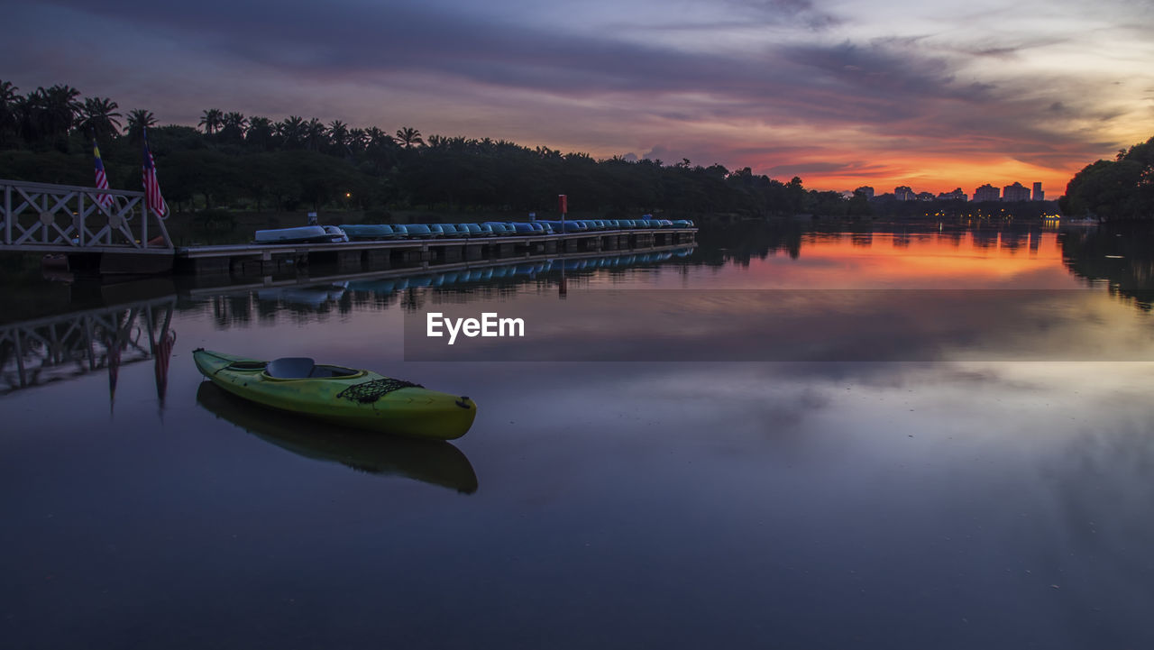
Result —
[[[967, 194], [1154, 136], [1139, 0], [2, 0], [0, 80]], [[10, 29], [15, 27], [16, 29]]]

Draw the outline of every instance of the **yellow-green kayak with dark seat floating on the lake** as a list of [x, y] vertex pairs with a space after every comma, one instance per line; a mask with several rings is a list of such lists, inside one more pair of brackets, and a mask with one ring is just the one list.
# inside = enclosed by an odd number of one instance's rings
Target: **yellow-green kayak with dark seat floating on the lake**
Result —
[[477, 417], [469, 397], [305, 357], [261, 361], [200, 348], [193, 360], [212, 383], [245, 399], [354, 428], [454, 440]]

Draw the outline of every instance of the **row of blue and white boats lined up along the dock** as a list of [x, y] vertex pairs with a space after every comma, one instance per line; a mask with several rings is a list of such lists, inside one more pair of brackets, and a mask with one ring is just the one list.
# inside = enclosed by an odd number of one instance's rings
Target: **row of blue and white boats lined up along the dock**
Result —
[[533, 222], [484, 222], [459, 224], [355, 224], [312, 225], [256, 231], [257, 244], [374, 241], [388, 239], [464, 239], [517, 237], [613, 230], [658, 230], [695, 227], [690, 219], [565, 219]]

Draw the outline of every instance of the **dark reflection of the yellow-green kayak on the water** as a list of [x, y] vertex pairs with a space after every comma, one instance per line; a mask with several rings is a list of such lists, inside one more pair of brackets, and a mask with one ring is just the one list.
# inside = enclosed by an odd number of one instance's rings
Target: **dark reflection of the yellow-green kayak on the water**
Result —
[[197, 389], [196, 403], [216, 417], [306, 458], [334, 461], [373, 475], [402, 476], [465, 494], [477, 492], [473, 465], [460, 449], [448, 442], [369, 434], [313, 420], [301, 426], [298, 416], [253, 404], [209, 381]]

